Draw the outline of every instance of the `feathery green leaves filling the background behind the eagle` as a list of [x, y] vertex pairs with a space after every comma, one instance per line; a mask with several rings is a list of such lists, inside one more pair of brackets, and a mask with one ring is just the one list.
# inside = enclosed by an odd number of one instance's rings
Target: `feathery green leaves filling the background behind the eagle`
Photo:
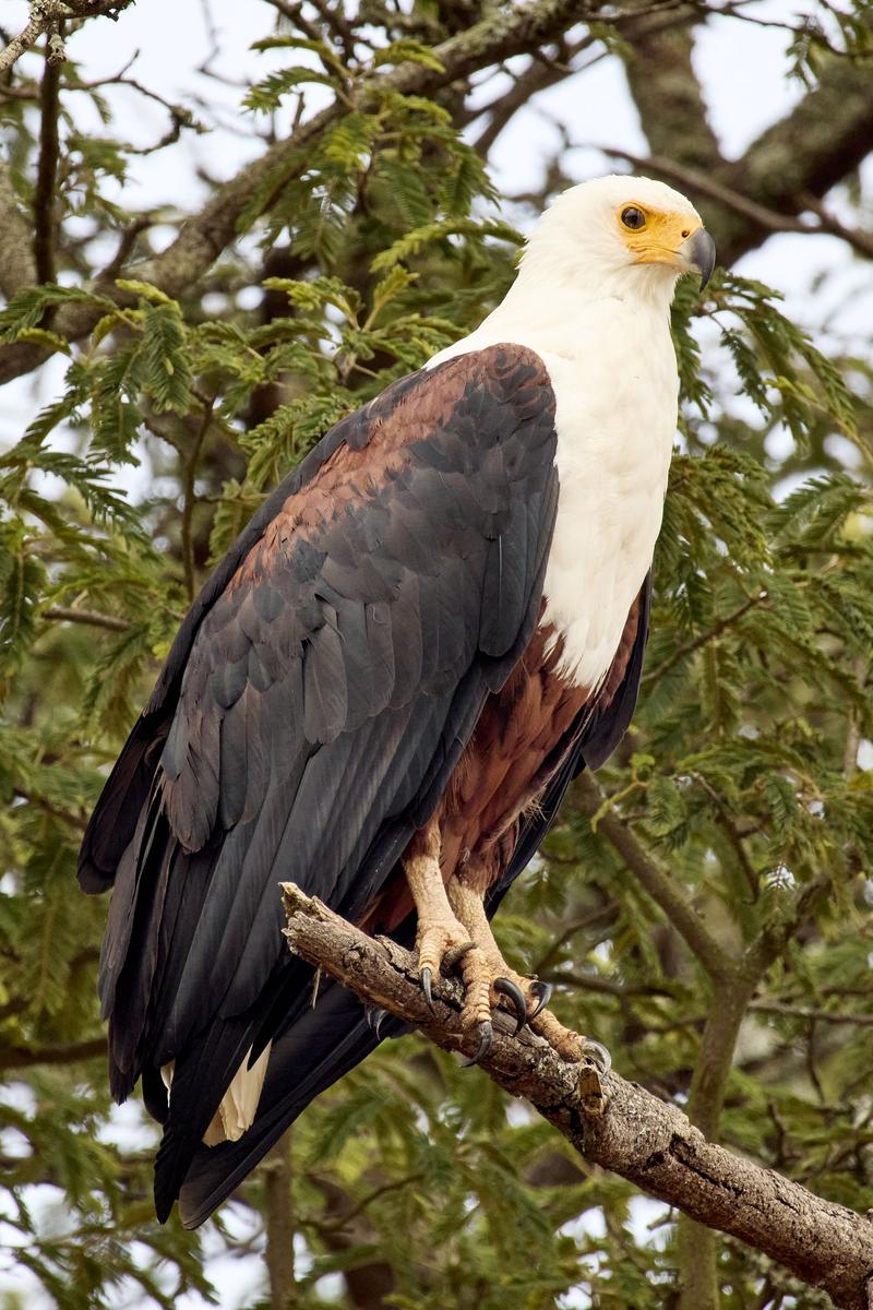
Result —
[[[148, 266], [96, 280], [71, 220], [92, 224], [101, 250], [130, 231], [137, 216], [109, 183], [131, 149], [65, 119], [63, 284], [0, 310], [0, 342], [60, 356], [56, 390], [0, 455], [0, 1204], [21, 1267], [63, 1310], [186, 1293], [221, 1303], [202, 1235], [153, 1221], [153, 1127], [137, 1108], [136, 1132], [120, 1132], [109, 1104], [93, 1055], [106, 905], [79, 895], [76, 852], [192, 591], [266, 491], [338, 418], [478, 324], [512, 276], [520, 237], [459, 134], [454, 89], [431, 100], [372, 76], [438, 71], [424, 39], [437, 8], [366, 7], [366, 59], [363, 43], [340, 58], [327, 35], [257, 43], [287, 63], [250, 89], [247, 121], [266, 130], [313, 85], [334, 113], [251, 187], [232, 255], [177, 297]], [[839, 28], [860, 58], [866, 24], [843, 14]], [[620, 47], [609, 26], [590, 34]], [[810, 28], [797, 46], [806, 76], [822, 41]], [[99, 90], [73, 67], [64, 76], [64, 100], [88, 94], [111, 123]], [[29, 202], [33, 124], [14, 96], [0, 113]], [[262, 309], [241, 308], [251, 288]], [[93, 325], [76, 341], [59, 328], [73, 309]], [[681, 284], [674, 335], [683, 444], [640, 706], [598, 776], [599, 814], [571, 795], [497, 934], [512, 964], [558, 985], [561, 1019], [686, 1106], [713, 979], [603, 815], [724, 951], [746, 959], [783, 933], [745, 1011], [720, 1133], [865, 1210], [873, 773], [857, 758], [873, 738], [873, 375], [732, 272], [703, 297]], [[775, 434], [793, 438], [787, 455], [770, 453]], [[836, 436], [855, 443], [846, 466]], [[401, 1310], [673, 1303], [670, 1216], [419, 1039], [331, 1089], [289, 1149], [298, 1310], [356, 1305], [349, 1289], [372, 1268]], [[209, 1226], [213, 1248], [263, 1248], [260, 1229], [240, 1237], [240, 1216], [264, 1217], [272, 1167]], [[347, 1275], [342, 1293], [331, 1273]], [[724, 1243], [728, 1310], [819, 1303], [780, 1277]]]

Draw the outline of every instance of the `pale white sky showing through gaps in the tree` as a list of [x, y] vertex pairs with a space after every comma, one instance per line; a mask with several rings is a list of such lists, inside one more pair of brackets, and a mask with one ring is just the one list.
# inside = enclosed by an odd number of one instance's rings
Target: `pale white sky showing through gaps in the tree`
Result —
[[[27, 8], [24, 0], [0, 0], [0, 22], [7, 30], [18, 30], [26, 21]], [[755, 0], [749, 12], [754, 10], [760, 22], [783, 21], [796, 9], [797, 5], [788, 0]], [[258, 143], [250, 136], [251, 117], [240, 110], [240, 100], [250, 81], [283, 62], [281, 55], [255, 54], [249, 48], [253, 39], [268, 34], [267, 14], [258, 0], [212, 0], [211, 4], [205, 0], [140, 0], [122, 13], [118, 22], [96, 20], [73, 38], [71, 54], [82, 60], [88, 79], [118, 72], [136, 54], [128, 76], [169, 100], [186, 103], [198, 115], [203, 101], [217, 106], [204, 135], [188, 135], [169, 151], [139, 157], [131, 166], [128, 183], [118, 189], [120, 200], [134, 207], [165, 206], [170, 214], [177, 207], [191, 211], [205, 196], [205, 186], [198, 176], [200, 170], [224, 179], [258, 152]], [[804, 94], [801, 84], [785, 76], [785, 42], [784, 30], [728, 18], [711, 21], [699, 37], [696, 69], [711, 122], [729, 157], [739, 156], [766, 126], [781, 118]], [[213, 52], [216, 46], [219, 54]], [[294, 60], [298, 62], [297, 55]], [[204, 62], [213, 76], [202, 71]], [[37, 67], [35, 60], [33, 67]], [[486, 98], [490, 100], [495, 89], [491, 83]], [[318, 107], [318, 96], [317, 89], [310, 109]], [[160, 105], [123, 88], [109, 90], [107, 97], [118, 109], [124, 135], [134, 143], [149, 144], [165, 131], [166, 114]], [[565, 166], [575, 179], [611, 170], [598, 145], [639, 155], [647, 152], [622, 68], [615, 58], [605, 58], [584, 76], [551, 89], [516, 115], [493, 152], [493, 179], [501, 193], [524, 193], [539, 182], [543, 164], [560, 140], [556, 122], [569, 131], [572, 148], [567, 152]], [[96, 119], [92, 126], [97, 130]], [[865, 170], [864, 182], [869, 198], [873, 169]], [[168, 228], [168, 240], [169, 234]], [[869, 331], [873, 271], [870, 265], [859, 265], [834, 237], [771, 237], [741, 261], [738, 271], [779, 288], [788, 313], [804, 325], [811, 328], [828, 318], [828, 334], [843, 342], [852, 342], [864, 329]], [[38, 377], [21, 379], [5, 388], [0, 447], [20, 438], [24, 423], [56, 389], [63, 367], [63, 362], [55, 362]], [[132, 486], [131, 493], [135, 490]], [[116, 1140], [131, 1140], [131, 1133], [139, 1140], [141, 1127], [136, 1104], [119, 1111], [111, 1133]], [[658, 1213], [654, 1203], [640, 1200], [635, 1207], [635, 1222], [643, 1230]], [[260, 1290], [263, 1265], [259, 1260], [220, 1258], [215, 1254], [220, 1247], [217, 1237], [208, 1239], [208, 1247], [213, 1252], [209, 1273], [221, 1289], [221, 1310], [243, 1310]], [[298, 1255], [305, 1259], [305, 1252]], [[27, 1293], [29, 1310], [42, 1310], [50, 1303], [33, 1290], [26, 1273], [10, 1269], [8, 1260], [0, 1256], [0, 1293], [12, 1289]], [[323, 1292], [327, 1294], [327, 1285]], [[179, 1300], [178, 1307], [200, 1310], [202, 1303], [200, 1298], [187, 1297]], [[131, 1289], [122, 1290], [118, 1306], [139, 1305], [141, 1301]], [[584, 1307], [586, 1301], [569, 1297], [564, 1305]]]

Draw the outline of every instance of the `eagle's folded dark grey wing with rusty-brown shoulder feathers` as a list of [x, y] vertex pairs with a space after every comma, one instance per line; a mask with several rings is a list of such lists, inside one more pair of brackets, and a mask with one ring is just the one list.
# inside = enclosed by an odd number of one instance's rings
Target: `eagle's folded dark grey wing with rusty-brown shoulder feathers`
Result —
[[[276, 883], [360, 917], [527, 643], [554, 455], [531, 352], [404, 379], [274, 493], [182, 625], [81, 858], [86, 889], [118, 871], [101, 977], [113, 1089], [143, 1073], [165, 1121], [162, 1217], [253, 1041], [301, 1049], [309, 972], [284, 948]], [[298, 1099], [342, 1064], [317, 1019], [306, 1031]]]

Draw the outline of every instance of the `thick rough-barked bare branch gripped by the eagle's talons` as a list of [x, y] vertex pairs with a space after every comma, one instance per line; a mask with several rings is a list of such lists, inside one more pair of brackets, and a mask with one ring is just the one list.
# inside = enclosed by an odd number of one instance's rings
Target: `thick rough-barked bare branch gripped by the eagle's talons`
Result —
[[[458, 982], [438, 981], [432, 1013], [408, 951], [366, 937], [291, 883], [284, 891], [287, 937], [297, 955], [445, 1051], [472, 1053], [476, 1039], [459, 1023]], [[483, 1069], [505, 1091], [530, 1100], [592, 1163], [779, 1260], [825, 1289], [839, 1310], [869, 1310], [873, 1224], [866, 1218], [708, 1142], [674, 1106], [615, 1073], [602, 1077], [603, 1108], [589, 1099], [593, 1065], [565, 1064], [526, 1031], [520, 1038], [497, 1032]]]

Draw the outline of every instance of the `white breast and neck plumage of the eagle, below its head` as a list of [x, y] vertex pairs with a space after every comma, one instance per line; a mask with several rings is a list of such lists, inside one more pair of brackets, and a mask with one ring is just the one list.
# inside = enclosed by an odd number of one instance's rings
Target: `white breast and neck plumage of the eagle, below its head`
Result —
[[619, 299], [530, 307], [508, 300], [431, 364], [497, 342], [535, 350], [556, 398], [558, 519], [544, 621], [564, 638], [563, 671], [597, 686], [650, 567], [677, 423], [678, 376], [668, 304]]

